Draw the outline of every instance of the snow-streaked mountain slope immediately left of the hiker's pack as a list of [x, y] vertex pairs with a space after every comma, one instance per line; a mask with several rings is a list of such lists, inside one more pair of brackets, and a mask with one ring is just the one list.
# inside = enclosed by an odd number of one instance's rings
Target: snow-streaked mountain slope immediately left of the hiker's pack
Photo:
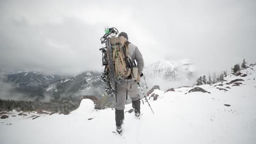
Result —
[[104, 94], [104, 88], [105, 83], [101, 80], [101, 74], [92, 71], [55, 81], [45, 87], [46, 93], [53, 95], [55, 98], [75, 97], [77, 95], [101, 97]]

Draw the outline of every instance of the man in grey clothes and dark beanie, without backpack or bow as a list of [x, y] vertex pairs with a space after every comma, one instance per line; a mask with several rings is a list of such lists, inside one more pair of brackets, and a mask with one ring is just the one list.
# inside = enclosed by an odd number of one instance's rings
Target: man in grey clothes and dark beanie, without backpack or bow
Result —
[[[119, 33], [118, 37], [125, 37], [128, 40], [128, 35], [125, 32]], [[128, 45], [128, 55], [131, 56], [132, 62], [136, 60], [139, 75], [142, 74], [144, 68], [144, 60], [139, 52], [138, 47], [134, 44], [129, 43]], [[124, 109], [126, 100], [126, 91], [132, 100], [132, 107], [135, 111], [135, 116], [139, 117], [141, 115], [141, 101], [139, 101], [139, 88], [137, 81], [126, 80], [123, 85], [117, 85], [117, 99], [115, 100], [115, 124], [117, 125], [117, 132], [122, 133], [122, 124], [124, 121]]]

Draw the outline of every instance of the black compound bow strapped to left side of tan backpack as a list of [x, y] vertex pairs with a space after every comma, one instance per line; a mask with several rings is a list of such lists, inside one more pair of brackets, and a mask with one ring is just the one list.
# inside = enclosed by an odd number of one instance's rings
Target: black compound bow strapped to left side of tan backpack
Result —
[[[106, 92], [113, 96], [117, 85], [117, 78], [115, 77], [115, 67], [113, 63], [113, 50], [110, 44], [109, 36], [115, 37], [118, 34], [117, 28], [105, 28], [105, 34], [101, 37], [101, 44], [106, 44], [102, 47], [102, 66], [104, 65], [104, 73], [101, 75], [102, 81], [106, 82]], [[110, 61], [109, 61], [110, 59]], [[113, 87], [114, 85], [114, 87]]]

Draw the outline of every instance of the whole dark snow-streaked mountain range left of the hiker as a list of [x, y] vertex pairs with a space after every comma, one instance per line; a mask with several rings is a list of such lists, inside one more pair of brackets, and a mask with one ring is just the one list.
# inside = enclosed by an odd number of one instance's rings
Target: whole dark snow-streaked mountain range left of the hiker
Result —
[[77, 95], [95, 95], [101, 97], [104, 93], [104, 83], [101, 74], [85, 71], [75, 76], [59, 76], [40, 73], [38, 71], [19, 71], [8, 74], [5, 83], [13, 87], [11, 91], [24, 93], [33, 99], [59, 100], [60, 98], [74, 98]]

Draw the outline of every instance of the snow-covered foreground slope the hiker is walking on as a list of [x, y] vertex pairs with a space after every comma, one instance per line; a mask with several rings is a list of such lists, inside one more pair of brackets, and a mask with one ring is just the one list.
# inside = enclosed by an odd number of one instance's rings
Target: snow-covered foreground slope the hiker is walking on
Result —
[[[228, 75], [224, 82], [199, 86], [210, 93], [155, 90], [159, 98], [141, 105], [141, 119], [125, 113], [124, 135], [115, 131], [114, 110], [94, 110], [91, 100], [82, 100], [69, 115], [39, 115], [18, 112], [0, 120], [1, 143], [255, 143], [256, 67], [242, 70], [245, 77]], [[242, 79], [240, 86], [226, 84]], [[229, 88], [227, 88], [229, 87]], [[226, 89], [219, 90], [220, 88]], [[164, 89], [166, 90], [166, 89]], [[187, 94], [186, 94], [187, 93]], [[149, 96], [150, 97], [150, 96]], [[230, 106], [225, 106], [225, 105]], [[131, 104], [126, 109], [131, 109]], [[16, 117], [13, 117], [16, 116]], [[92, 118], [92, 119], [91, 119]], [[90, 119], [90, 120], [89, 120]]]

